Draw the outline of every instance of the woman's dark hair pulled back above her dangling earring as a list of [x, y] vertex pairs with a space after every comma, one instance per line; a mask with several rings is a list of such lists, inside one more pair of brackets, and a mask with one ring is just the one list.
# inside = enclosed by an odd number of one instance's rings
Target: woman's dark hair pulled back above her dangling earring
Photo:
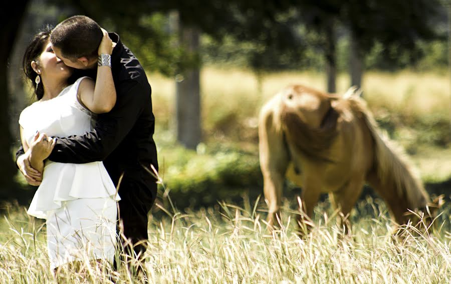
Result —
[[31, 40], [30, 44], [27, 46], [24, 58], [22, 60], [22, 67], [24, 69], [25, 77], [31, 81], [31, 84], [33, 86], [33, 89], [35, 90], [35, 94], [36, 97], [38, 98], [38, 101], [41, 100], [42, 97], [44, 96], [44, 87], [42, 83], [40, 84], [35, 83], [38, 73], [36, 73], [35, 70], [33, 70], [31, 63], [32, 61], [36, 61], [39, 64], [39, 57], [41, 56], [42, 52], [44, 51], [44, 48], [46, 47], [50, 39], [51, 32], [52, 28], [50, 26], [46, 26], [41, 32], [35, 35]]

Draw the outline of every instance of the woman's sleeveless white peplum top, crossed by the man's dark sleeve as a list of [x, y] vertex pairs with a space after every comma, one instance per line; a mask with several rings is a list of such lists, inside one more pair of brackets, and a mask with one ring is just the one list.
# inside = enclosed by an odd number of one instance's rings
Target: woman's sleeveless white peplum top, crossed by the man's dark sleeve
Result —
[[[91, 131], [93, 114], [77, 98], [78, 86], [85, 78], [88, 77], [79, 78], [57, 97], [37, 101], [22, 111], [19, 124], [29, 145], [36, 131], [49, 137], [68, 137]], [[105, 197], [120, 200], [103, 162], [72, 164], [46, 160], [43, 180], [27, 212], [46, 219], [47, 211], [61, 208], [63, 201]]]

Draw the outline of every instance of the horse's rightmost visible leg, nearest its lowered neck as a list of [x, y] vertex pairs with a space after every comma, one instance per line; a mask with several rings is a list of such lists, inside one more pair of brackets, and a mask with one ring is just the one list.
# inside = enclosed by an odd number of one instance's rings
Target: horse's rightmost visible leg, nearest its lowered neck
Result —
[[336, 192], [329, 193], [329, 199], [334, 209], [338, 209], [341, 213], [338, 221], [341, 227], [344, 227], [345, 234], [351, 232], [351, 225], [348, 217], [352, 208], [354, 208], [357, 199], [362, 192], [365, 184], [363, 177], [356, 177], [349, 180], [342, 188]]

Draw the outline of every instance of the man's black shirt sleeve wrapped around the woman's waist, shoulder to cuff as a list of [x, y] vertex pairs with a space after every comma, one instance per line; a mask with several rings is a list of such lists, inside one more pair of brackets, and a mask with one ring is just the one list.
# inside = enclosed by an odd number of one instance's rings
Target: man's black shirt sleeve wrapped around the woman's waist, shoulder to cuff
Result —
[[122, 82], [118, 89], [116, 105], [109, 113], [98, 115], [94, 130], [58, 138], [50, 160], [81, 164], [103, 161], [111, 154], [135, 124], [144, 106], [143, 98], [150, 96], [135, 81]]

